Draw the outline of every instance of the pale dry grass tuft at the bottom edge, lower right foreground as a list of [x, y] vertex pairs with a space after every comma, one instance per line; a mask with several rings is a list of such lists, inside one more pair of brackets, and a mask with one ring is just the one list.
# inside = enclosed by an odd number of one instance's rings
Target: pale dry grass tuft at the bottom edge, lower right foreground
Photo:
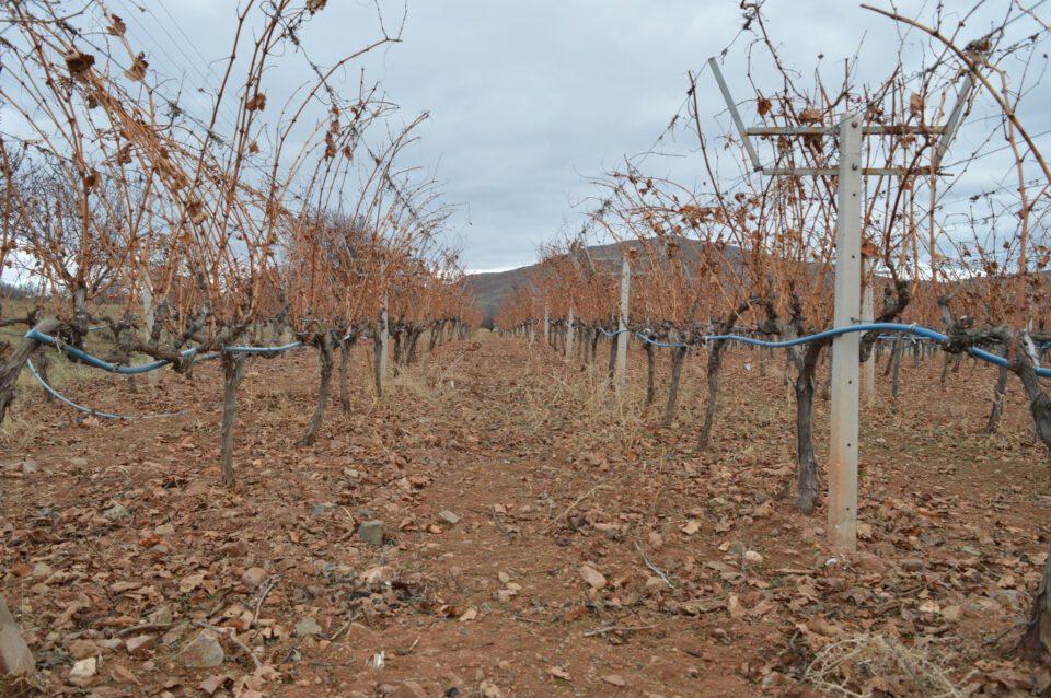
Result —
[[804, 680], [829, 696], [844, 698], [966, 695], [927, 648], [908, 648], [878, 633], [855, 635], [825, 645], [807, 667]]

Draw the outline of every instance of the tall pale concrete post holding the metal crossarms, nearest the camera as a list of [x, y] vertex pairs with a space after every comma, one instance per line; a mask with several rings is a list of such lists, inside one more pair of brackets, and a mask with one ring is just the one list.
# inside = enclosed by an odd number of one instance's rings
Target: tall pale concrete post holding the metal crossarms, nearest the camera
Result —
[[[855, 325], [862, 305], [862, 121], [847, 114], [839, 126], [833, 327]], [[829, 538], [838, 550], [857, 546], [857, 333], [832, 340], [832, 431], [829, 439]]]

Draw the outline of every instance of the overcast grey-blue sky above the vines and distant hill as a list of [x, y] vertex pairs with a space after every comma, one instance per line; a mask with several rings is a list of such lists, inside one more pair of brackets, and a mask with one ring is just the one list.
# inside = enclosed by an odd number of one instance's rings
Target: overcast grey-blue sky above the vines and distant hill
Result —
[[[957, 2], [945, 4], [951, 9]], [[381, 3], [385, 23], [394, 27], [401, 0]], [[934, 2], [898, 4], [928, 15]], [[126, 19], [128, 37], [147, 51], [151, 69], [183, 81], [184, 104], [192, 102], [194, 88], [216, 80], [234, 28], [233, 2], [109, 0], [108, 5]], [[970, 5], [960, 2], [961, 9]], [[889, 69], [887, 51], [898, 45], [892, 22], [853, 1], [769, 0], [765, 14], [784, 57], [804, 74], [819, 55], [825, 70], [842, 71], [842, 60], [864, 39], [859, 72], [881, 79]], [[532, 261], [538, 244], [559, 230], [580, 225], [598, 191], [588, 177], [648, 149], [680, 108], [686, 72], [730, 45], [741, 24], [738, 0], [408, 0], [402, 42], [359, 67], [401, 105], [402, 120], [430, 114], [405, 164], [434, 172], [441, 183], [455, 207], [450, 228], [467, 268], [509, 268]], [[971, 27], [978, 35], [988, 22], [975, 20]], [[330, 0], [301, 39], [325, 62], [377, 32], [370, 2]], [[724, 66], [739, 100], [754, 96], [743, 82], [751, 38], [738, 38]], [[301, 70], [301, 62], [294, 65]], [[762, 65], [753, 77], [760, 84], [769, 79], [771, 91], [777, 88]], [[267, 78], [289, 85], [302, 79], [280, 67]], [[723, 100], [711, 74], [698, 84], [701, 112], [711, 119], [705, 126], [717, 128], [716, 118], [725, 123]], [[1037, 126], [1049, 124], [1042, 110], [1035, 118]], [[650, 156], [646, 168], [700, 183], [694, 147], [695, 138], [680, 132], [678, 142], [661, 149], [678, 156]], [[965, 138], [960, 148], [966, 147]]]

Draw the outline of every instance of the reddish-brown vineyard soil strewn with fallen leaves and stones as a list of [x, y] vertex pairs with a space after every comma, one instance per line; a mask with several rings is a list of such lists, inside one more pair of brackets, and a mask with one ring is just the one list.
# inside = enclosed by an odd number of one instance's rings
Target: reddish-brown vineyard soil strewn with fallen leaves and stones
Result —
[[[253, 360], [234, 491], [217, 487], [218, 367], [134, 392], [111, 376], [68, 386], [100, 409], [187, 410], [164, 420], [78, 422], [26, 392], [18, 423], [32, 430], [0, 446], [2, 595], [51, 695], [417, 695], [403, 682], [426, 696], [818, 695], [799, 676], [862, 633], [897, 659], [820, 680], [936, 695], [923, 682], [942, 667], [991, 695], [1051, 683], [1009, 656], [1051, 504], [1017, 386], [986, 435], [995, 371], [965, 362], [942, 386], [940, 358], [905, 360], [897, 412], [881, 379], [863, 415], [861, 552], [832, 558], [823, 510], [802, 516], [784, 496], [781, 356], [764, 375], [730, 352], [705, 453], [703, 356], [662, 430], [640, 405], [639, 351], [617, 405], [601, 376], [485, 333], [377, 403], [359, 349], [351, 410], [333, 405], [310, 447], [296, 440], [314, 359]], [[366, 519], [384, 522], [382, 546], [358, 538]], [[201, 626], [238, 629], [277, 674], [229, 639], [221, 665], [185, 668]], [[79, 687], [71, 654], [100, 658]]]

